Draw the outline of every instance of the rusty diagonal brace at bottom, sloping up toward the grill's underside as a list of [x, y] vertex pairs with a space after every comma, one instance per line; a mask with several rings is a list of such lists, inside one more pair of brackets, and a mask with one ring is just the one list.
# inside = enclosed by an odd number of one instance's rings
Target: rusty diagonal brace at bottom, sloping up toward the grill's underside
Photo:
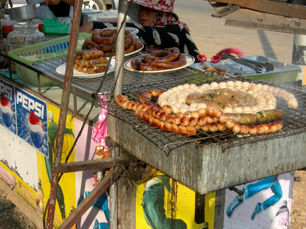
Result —
[[109, 172], [106, 176], [99, 182], [99, 184], [86, 196], [86, 198], [74, 209], [74, 211], [67, 217], [66, 220], [58, 227], [58, 229], [70, 229], [77, 220], [79, 220], [82, 215], [91, 207], [91, 205], [106, 191], [112, 180], [117, 180], [124, 172], [125, 168], [119, 166], [114, 169], [114, 173]]

